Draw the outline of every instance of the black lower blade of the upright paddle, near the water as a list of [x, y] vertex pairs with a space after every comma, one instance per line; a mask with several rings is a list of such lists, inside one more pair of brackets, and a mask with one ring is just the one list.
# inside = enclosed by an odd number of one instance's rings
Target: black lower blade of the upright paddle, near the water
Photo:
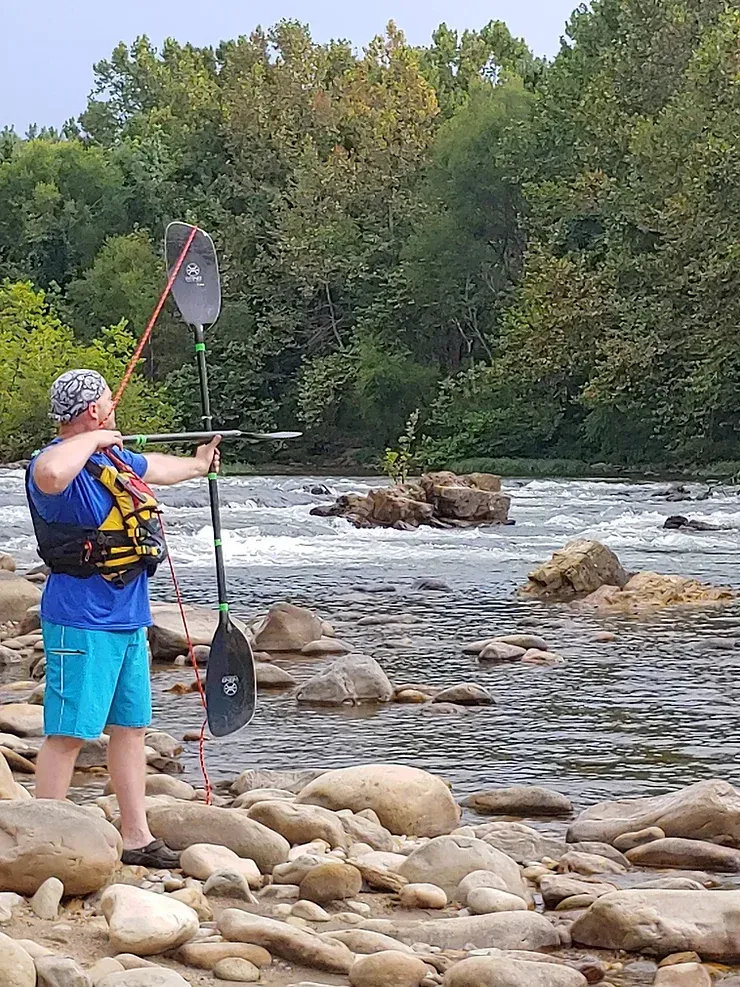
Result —
[[257, 682], [252, 648], [244, 633], [226, 615], [211, 642], [206, 674], [208, 729], [227, 737], [254, 716]]

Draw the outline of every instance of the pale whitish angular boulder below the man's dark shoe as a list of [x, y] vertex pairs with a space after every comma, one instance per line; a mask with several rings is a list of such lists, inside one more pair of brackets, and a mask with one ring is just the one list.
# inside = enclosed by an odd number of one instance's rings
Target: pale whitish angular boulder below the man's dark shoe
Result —
[[129, 884], [113, 884], [101, 899], [110, 944], [117, 952], [153, 956], [182, 946], [198, 931], [198, 916], [181, 901]]

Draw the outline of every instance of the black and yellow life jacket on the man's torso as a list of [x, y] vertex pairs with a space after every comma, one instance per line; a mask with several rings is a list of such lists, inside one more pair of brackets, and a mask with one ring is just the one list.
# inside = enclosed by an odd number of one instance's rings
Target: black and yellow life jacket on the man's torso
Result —
[[122, 460], [106, 450], [110, 465], [89, 460], [84, 469], [113, 497], [113, 506], [97, 528], [45, 521], [31, 497], [30, 466], [26, 492], [38, 553], [55, 573], [89, 579], [101, 575], [119, 588], [142, 573], [153, 575], [167, 557], [160, 505], [151, 489]]

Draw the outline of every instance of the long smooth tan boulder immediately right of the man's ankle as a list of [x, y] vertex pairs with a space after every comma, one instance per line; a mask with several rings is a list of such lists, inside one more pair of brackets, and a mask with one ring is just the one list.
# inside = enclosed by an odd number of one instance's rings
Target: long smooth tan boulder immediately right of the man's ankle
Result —
[[263, 874], [288, 859], [288, 841], [241, 809], [172, 802], [150, 806], [147, 819], [154, 836], [173, 850], [185, 850], [195, 843], [225, 846], [253, 860]]

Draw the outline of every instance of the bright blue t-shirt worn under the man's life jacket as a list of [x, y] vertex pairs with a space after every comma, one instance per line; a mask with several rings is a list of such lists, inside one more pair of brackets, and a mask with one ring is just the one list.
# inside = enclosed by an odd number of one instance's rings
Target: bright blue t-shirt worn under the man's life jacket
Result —
[[[52, 445], [58, 442], [55, 439]], [[47, 447], [48, 448], [48, 447]], [[116, 449], [116, 456], [138, 476], [146, 473], [144, 456], [128, 449]], [[91, 457], [94, 463], [110, 466], [110, 460], [100, 452]], [[58, 494], [42, 493], [33, 481], [31, 463], [29, 493], [34, 507], [48, 522], [82, 524], [97, 528], [113, 506], [113, 496], [103, 484], [82, 470], [70, 485]], [[92, 631], [131, 631], [149, 627], [152, 614], [149, 607], [149, 577], [142, 573], [128, 586], [119, 588], [95, 574], [87, 579], [52, 572], [41, 597], [41, 616], [54, 624], [81, 627]]]

